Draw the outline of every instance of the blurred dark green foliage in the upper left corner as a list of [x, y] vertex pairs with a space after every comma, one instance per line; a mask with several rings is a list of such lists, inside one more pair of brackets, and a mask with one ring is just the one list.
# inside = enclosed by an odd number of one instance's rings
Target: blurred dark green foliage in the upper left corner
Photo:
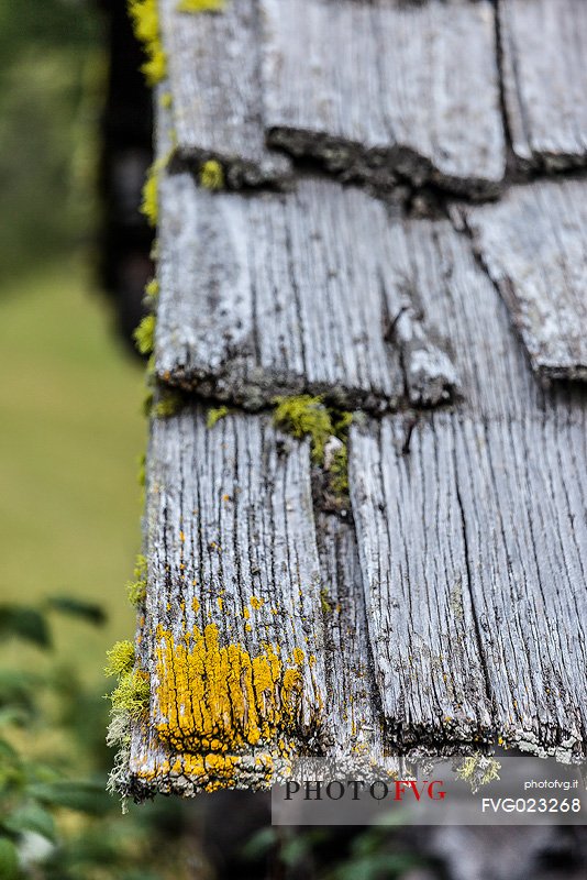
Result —
[[93, 3], [0, 3], [2, 276], [64, 253], [92, 228], [99, 37]]

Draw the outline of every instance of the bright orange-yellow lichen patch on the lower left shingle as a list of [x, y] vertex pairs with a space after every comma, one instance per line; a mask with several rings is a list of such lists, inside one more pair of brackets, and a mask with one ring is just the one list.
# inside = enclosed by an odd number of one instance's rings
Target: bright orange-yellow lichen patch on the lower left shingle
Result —
[[215, 624], [203, 632], [195, 627], [179, 642], [157, 627], [162, 721], [156, 729], [162, 741], [208, 760], [292, 736], [299, 726], [304, 656], [295, 651], [294, 666], [288, 666], [291, 661], [279, 653], [269, 644], [256, 657], [240, 644], [221, 645]]

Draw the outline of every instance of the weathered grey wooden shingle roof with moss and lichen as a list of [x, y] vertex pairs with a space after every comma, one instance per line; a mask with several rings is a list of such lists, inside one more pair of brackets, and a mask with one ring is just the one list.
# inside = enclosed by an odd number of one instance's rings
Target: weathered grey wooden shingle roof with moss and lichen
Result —
[[[587, 757], [587, 15], [556, 8], [159, 0], [181, 408], [151, 424], [136, 796], [299, 754]], [[300, 395], [323, 448], [276, 424]]]

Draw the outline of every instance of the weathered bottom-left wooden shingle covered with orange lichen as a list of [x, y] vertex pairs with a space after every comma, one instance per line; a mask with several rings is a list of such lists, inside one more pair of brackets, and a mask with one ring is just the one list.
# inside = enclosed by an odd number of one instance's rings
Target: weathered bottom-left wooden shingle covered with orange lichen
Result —
[[278, 442], [268, 417], [153, 422], [135, 790], [267, 787], [328, 739], [309, 474], [308, 442]]

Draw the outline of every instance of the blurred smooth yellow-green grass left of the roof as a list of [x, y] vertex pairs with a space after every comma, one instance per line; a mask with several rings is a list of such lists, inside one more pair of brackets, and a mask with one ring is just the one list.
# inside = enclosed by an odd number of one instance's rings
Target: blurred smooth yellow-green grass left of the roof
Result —
[[[57, 658], [96, 680], [106, 649], [134, 628], [124, 584], [140, 542], [143, 370], [81, 261], [38, 266], [2, 294], [0, 594], [101, 604], [101, 629], [54, 618]], [[35, 662], [21, 644], [19, 660], [23, 650]]]

